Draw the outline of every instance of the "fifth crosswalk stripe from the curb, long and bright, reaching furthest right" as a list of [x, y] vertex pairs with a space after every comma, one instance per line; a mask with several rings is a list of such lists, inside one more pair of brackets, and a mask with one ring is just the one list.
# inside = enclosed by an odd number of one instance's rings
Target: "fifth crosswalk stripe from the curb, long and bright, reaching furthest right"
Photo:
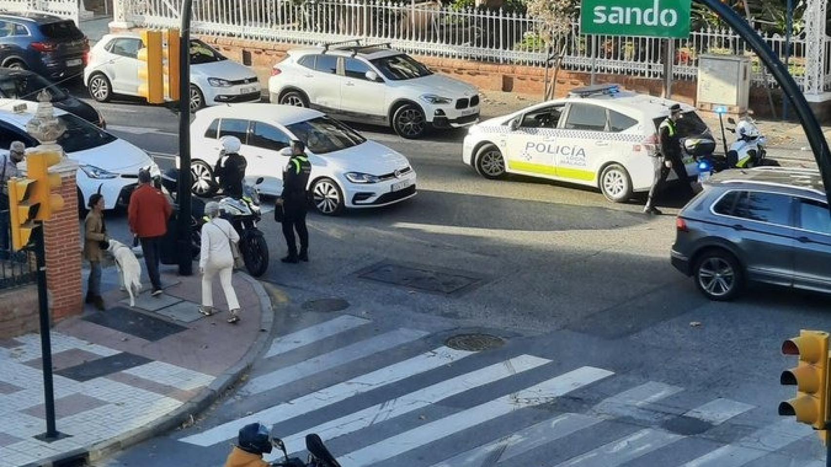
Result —
[[547, 403], [558, 396], [563, 396], [563, 394], [597, 382], [612, 374], [614, 373], [602, 368], [581, 367], [514, 394], [499, 397], [493, 401], [457, 412], [454, 415], [446, 416], [441, 420], [391, 436], [360, 450], [341, 455], [339, 458], [345, 460], [342, 464], [352, 465], [352, 467], [372, 465], [477, 426], [485, 421], [508, 415], [512, 411]]

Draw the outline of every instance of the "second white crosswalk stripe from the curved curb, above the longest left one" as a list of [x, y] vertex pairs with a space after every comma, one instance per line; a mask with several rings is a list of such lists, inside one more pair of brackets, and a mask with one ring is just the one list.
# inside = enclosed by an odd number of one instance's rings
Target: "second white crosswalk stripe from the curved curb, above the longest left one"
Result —
[[246, 394], [259, 394], [260, 392], [270, 391], [275, 387], [285, 386], [290, 382], [295, 382], [304, 377], [310, 377], [317, 373], [355, 362], [361, 358], [369, 357], [375, 353], [396, 348], [402, 344], [423, 338], [425, 335], [427, 335], [425, 331], [406, 328], [395, 329], [388, 333], [379, 334], [364, 341], [347, 345], [347, 347], [324, 353], [315, 358], [309, 358], [304, 362], [299, 362], [255, 377], [243, 386], [242, 392]]

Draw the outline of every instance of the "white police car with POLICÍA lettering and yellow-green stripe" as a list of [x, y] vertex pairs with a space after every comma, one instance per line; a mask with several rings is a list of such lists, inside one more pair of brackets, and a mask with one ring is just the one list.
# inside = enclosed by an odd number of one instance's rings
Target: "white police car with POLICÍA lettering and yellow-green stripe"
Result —
[[[485, 178], [518, 173], [600, 188], [608, 200], [625, 202], [647, 192], [658, 172], [657, 127], [672, 100], [595, 85], [472, 126], [462, 153]], [[711, 139], [690, 105], [681, 104], [681, 138]], [[687, 173], [698, 175], [693, 158]], [[675, 173], [670, 174], [670, 179]]]

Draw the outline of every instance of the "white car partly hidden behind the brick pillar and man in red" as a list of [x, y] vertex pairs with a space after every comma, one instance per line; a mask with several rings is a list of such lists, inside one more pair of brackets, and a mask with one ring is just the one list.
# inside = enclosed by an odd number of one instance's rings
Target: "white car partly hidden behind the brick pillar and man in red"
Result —
[[[0, 102], [0, 150], [7, 150], [12, 141], [22, 141], [27, 148], [37, 146], [37, 140], [26, 132], [26, 124], [35, 115], [37, 104], [26, 100]], [[66, 125], [66, 132], [57, 139], [57, 144], [67, 158], [81, 164], [76, 174], [79, 207], [86, 207], [91, 195], [99, 190], [104, 195], [105, 209], [126, 207], [140, 169], [150, 168], [153, 177], [160, 175], [159, 166], [144, 150], [74, 114], [55, 109], [55, 115]]]

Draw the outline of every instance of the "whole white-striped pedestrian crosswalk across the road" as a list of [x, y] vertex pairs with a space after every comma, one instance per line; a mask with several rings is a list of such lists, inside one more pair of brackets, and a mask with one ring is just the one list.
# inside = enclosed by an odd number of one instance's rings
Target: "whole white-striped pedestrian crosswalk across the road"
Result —
[[[743, 401], [691, 396], [684, 387], [568, 367], [509, 346], [482, 353], [436, 347], [430, 332], [350, 314], [275, 338], [264, 360], [263, 372], [239, 392], [258, 410], [179, 441], [224, 444], [258, 421], [276, 426], [298, 456], [305, 435], [317, 433], [350, 467], [750, 467], [812, 433], [792, 420], [761, 425], [748, 418], [760, 407]], [[601, 387], [603, 396], [590, 396]], [[300, 396], [273, 401], [272, 393]], [[592, 402], [560, 406], [564, 399]], [[673, 428], [684, 422], [696, 426], [695, 435]], [[745, 436], [712, 435], [733, 423]], [[688, 447], [693, 436], [701, 436], [696, 449]]]

